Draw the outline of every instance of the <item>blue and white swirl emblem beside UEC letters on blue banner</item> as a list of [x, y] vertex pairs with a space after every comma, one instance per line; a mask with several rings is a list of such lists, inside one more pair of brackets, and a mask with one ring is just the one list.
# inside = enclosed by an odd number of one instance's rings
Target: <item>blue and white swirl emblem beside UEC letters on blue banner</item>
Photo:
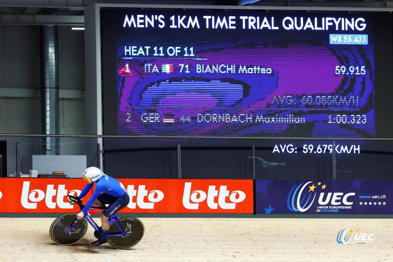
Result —
[[[312, 181], [309, 181], [304, 185], [301, 183], [300, 185], [292, 187], [286, 203], [289, 210], [305, 212], [311, 207], [312, 203], [314, 203], [316, 193], [314, 190], [311, 190], [311, 188], [314, 187], [314, 184], [312, 186], [308, 186], [310, 183], [312, 183]], [[306, 187], [309, 187], [310, 190], [303, 193]]]

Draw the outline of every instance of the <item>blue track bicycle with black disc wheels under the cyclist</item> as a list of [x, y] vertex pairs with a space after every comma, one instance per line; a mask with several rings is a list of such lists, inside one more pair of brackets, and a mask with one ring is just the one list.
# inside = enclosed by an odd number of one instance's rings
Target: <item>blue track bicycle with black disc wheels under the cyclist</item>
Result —
[[[74, 196], [68, 195], [68, 199], [79, 205], [80, 210], [84, 208], [81, 200]], [[101, 209], [105, 207], [91, 206], [88, 211]], [[59, 216], [52, 223], [49, 236], [52, 241], [58, 245], [68, 246], [81, 240], [87, 231], [87, 222], [94, 229], [94, 236], [98, 239], [101, 237], [101, 227], [99, 227], [90, 214], [84, 213], [84, 217], [77, 219], [77, 213], [68, 213]], [[108, 244], [116, 249], [127, 249], [135, 246], [140, 242], [144, 234], [142, 222], [135, 217], [120, 217], [116, 214], [109, 218]]]

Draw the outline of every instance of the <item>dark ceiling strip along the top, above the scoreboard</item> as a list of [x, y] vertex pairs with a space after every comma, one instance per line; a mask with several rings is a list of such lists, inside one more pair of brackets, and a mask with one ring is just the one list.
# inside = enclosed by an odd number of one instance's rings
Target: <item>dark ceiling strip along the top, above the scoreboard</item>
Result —
[[84, 7], [94, 3], [393, 11], [393, 0], [0, 0], [0, 25], [82, 25]]

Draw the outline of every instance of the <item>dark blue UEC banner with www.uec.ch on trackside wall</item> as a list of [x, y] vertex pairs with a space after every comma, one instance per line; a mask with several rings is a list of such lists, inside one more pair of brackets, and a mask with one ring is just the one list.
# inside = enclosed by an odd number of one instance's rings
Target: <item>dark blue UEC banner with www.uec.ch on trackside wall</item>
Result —
[[389, 180], [256, 180], [257, 214], [392, 214]]

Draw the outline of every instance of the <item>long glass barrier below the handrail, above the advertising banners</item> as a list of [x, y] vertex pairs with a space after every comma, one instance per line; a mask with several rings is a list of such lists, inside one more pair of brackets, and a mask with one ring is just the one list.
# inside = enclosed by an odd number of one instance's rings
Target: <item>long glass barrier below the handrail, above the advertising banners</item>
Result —
[[1, 135], [1, 177], [390, 180], [393, 140]]

